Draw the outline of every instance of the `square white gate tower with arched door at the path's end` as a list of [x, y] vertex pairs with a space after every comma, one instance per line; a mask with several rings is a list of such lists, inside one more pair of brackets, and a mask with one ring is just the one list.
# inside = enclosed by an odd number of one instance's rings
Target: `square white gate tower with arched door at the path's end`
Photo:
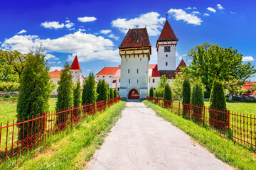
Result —
[[151, 55], [146, 28], [129, 29], [118, 48], [121, 56], [119, 96], [129, 99], [146, 98]]

